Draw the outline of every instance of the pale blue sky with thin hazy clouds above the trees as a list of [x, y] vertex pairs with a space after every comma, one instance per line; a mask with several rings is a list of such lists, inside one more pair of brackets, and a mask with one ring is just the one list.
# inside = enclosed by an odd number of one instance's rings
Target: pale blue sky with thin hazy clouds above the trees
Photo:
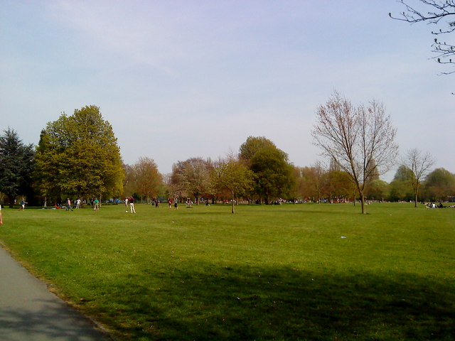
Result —
[[454, 173], [455, 75], [432, 60], [433, 26], [388, 15], [404, 10], [395, 0], [0, 0], [0, 129], [38, 144], [48, 122], [94, 104], [125, 163], [152, 158], [166, 174], [265, 136], [303, 167], [323, 160], [311, 129], [336, 90], [355, 105], [382, 102], [401, 155], [418, 148]]

